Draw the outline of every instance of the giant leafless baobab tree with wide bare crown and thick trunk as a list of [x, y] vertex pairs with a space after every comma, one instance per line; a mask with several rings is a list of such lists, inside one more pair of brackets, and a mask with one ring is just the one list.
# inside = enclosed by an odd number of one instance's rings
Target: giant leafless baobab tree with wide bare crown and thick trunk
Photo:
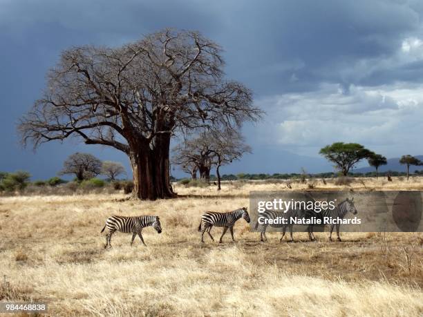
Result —
[[252, 93], [223, 77], [221, 48], [198, 32], [163, 30], [118, 48], [62, 53], [43, 97], [21, 118], [23, 144], [77, 136], [126, 153], [133, 195], [173, 198], [171, 136], [260, 117]]

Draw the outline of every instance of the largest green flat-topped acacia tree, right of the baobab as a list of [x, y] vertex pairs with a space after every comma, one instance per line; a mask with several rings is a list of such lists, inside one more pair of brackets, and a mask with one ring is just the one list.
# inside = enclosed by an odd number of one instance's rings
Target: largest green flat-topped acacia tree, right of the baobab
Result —
[[335, 167], [341, 171], [342, 175], [346, 176], [355, 164], [360, 160], [371, 157], [374, 153], [361, 144], [335, 142], [321, 148], [319, 154], [335, 163]]

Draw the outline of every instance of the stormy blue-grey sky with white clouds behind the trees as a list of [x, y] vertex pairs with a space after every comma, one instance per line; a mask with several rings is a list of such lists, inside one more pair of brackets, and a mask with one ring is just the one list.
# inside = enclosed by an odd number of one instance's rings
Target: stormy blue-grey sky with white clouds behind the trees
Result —
[[332, 171], [319, 149], [339, 141], [388, 158], [420, 155], [422, 15], [418, 0], [0, 0], [0, 171], [52, 177], [79, 151], [130, 173], [111, 148], [76, 140], [22, 148], [17, 121], [62, 50], [119, 46], [169, 27], [223, 46], [227, 78], [251, 88], [266, 113], [243, 127], [253, 153], [223, 173]]

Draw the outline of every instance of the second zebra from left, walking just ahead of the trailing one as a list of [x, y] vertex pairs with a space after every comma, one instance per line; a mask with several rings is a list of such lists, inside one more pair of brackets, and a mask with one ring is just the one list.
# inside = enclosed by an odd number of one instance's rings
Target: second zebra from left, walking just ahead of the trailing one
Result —
[[229, 213], [214, 213], [212, 211], [207, 211], [204, 215], [201, 216], [201, 222], [198, 226], [198, 231], [201, 232], [201, 242], [204, 243], [204, 233], [207, 231], [210, 238], [214, 241], [214, 238], [210, 231], [212, 227], [223, 227], [222, 236], [220, 236], [219, 243], [222, 243], [222, 238], [225, 236], [227, 229], [231, 231], [232, 241], [234, 239], [234, 224], [236, 220], [244, 218], [246, 222], [250, 223], [250, 215], [248, 214], [247, 207], [241, 209], [236, 209], [234, 211], [229, 211]]

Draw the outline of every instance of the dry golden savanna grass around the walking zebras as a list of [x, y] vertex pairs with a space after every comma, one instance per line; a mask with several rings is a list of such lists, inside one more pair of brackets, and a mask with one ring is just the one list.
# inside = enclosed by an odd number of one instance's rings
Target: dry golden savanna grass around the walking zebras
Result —
[[[292, 189], [308, 188], [292, 184]], [[315, 181], [314, 189], [342, 189]], [[423, 189], [422, 179], [355, 180], [348, 189]], [[204, 211], [248, 206], [252, 190], [285, 182], [232, 182], [174, 189], [184, 198], [120, 201], [122, 194], [0, 198], [0, 300], [48, 302], [52, 316], [419, 316], [423, 314], [422, 233], [341, 233], [329, 242], [259, 242], [240, 220], [236, 243], [197, 231]], [[144, 229], [142, 246], [115, 233], [110, 215], [160, 215], [163, 233]], [[216, 240], [221, 229], [213, 229]], [[407, 257], [411, 258], [408, 265]], [[4, 285], [3, 278], [8, 281]]]

